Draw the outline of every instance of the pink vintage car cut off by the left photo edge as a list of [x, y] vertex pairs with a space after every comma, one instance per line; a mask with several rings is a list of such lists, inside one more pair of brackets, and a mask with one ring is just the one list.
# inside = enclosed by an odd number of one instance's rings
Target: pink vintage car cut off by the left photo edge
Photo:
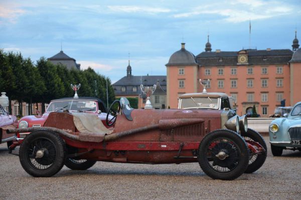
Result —
[[0, 105], [0, 143], [7, 142], [8, 148], [13, 144], [13, 141], [16, 140], [16, 137], [7, 134], [6, 130], [16, 128], [17, 124], [17, 118], [9, 115]]

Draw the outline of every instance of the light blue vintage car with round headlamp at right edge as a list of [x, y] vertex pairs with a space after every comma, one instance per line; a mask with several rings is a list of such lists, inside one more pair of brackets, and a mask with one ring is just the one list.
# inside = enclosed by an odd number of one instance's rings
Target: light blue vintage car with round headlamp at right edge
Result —
[[294, 105], [286, 118], [270, 123], [269, 138], [274, 156], [281, 156], [283, 149], [301, 151], [301, 102]]

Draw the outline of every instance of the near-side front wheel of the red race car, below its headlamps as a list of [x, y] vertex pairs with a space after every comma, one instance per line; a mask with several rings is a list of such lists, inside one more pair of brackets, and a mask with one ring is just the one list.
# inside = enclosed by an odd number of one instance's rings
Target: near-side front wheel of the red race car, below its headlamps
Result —
[[216, 130], [201, 141], [198, 161], [202, 170], [211, 178], [232, 180], [243, 174], [248, 167], [248, 147], [236, 132]]

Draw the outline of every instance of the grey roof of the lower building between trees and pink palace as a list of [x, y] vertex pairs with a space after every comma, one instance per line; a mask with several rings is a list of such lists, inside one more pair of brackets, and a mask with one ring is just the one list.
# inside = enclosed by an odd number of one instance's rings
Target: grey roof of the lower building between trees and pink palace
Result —
[[124, 76], [121, 79], [119, 79], [117, 82], [112, 84], [113, 86], [117, 85], [154, 85], [157, 83], [157, 80], [160, 81], [161, 85], [166, 85], [166, 76]]

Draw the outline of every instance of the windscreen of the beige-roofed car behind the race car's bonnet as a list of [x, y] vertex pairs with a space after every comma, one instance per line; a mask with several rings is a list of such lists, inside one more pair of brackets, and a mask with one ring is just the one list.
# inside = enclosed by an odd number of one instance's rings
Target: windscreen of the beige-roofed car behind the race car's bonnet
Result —
[[212, 98], [212, 97], [181, 98], [180, 109], [188, 109], [188, 108], [218, 109], [218, 98]]

